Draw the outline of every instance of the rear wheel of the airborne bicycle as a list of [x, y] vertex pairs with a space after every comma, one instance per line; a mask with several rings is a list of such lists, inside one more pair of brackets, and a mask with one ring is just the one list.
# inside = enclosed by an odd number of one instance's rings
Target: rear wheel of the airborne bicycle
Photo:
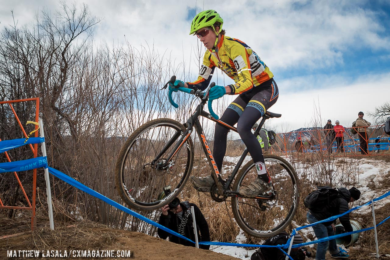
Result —
[[[293, 167], [276, 155], [264, 157], [275, 187], [274, 199], [232, 198], [232, 210], [239, 227], [254, 237], [271, 237], [283, 231], [298, 209], [298, 177]], [[234, 181], [233, 191], [246, 187], [257, 177], [253, 160], [248, 162]]]

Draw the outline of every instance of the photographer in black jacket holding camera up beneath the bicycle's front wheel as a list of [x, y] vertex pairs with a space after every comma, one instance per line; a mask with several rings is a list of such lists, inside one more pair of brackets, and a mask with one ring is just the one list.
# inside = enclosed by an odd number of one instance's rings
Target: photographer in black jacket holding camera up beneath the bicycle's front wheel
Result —
[[[197, 205], [189, 203], [188, 201], [181, 202], [176, 208], [173, 209], [170, 209], [168, 205], [162, 207], [158, 223], [195, 242], [191, 207], [194, 207], [195, 220], [198, 231], [198, 241], [210, 241], [209, 225], [207, 224], [204, 215]], [[164, 230], [161, 230], [160, 228], [157, 229], [157, 234], [161, 239], [167, 239], [167, 237], [169, 237], [169, 241], [176, 244], [182, 244], [184, 246], [195, 246], [194, 243], [185, 239], [181, 239]], [[208, 250], [210, 249], [210, 246], [199, 245], [199, 248]]]

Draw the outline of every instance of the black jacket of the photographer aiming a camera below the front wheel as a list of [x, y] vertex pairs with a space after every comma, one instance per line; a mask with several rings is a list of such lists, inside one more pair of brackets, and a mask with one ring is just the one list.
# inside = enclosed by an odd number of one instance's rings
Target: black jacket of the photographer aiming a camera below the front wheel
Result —
[[[210, 241], [210, 232], [209, 232], [209, 225], [207, 224], [206, 219], [204, 218], [204, 215], [200, 211], [197, 205], [193, 203], [189, 203], [190, 207], [194, 207], [195, 212], [195, 219], [197, 224], [197, 230], [198, 230], [198, 241]], [[181, 208], [183, 209], [183, 216], [184, 213], [189, 210], [190, 208], [187, 208], [186, 205], [183, 203], [180, 203]], [[180, 221], [180, 219], [179, 219]], [[168, 215], [160, 215], [160, 219], [158, 220], [158, 223], [169, 228], [170, 230], [173, 230], [177, 232], [177, 218], [176, 214], [168, 210]], [[184, 237], [187, 237], [195, 242], [195, 234], [193, 232], [193, 224], [192, 224], [192, 214], [190, 217], [188, 217], [188, 222], [186, 224], [186, 229], [184, 230]], [[200, 235], [199, 235], [200, 232]], [[168, 232], [165, 232], [164, 230], [161, 230], [160, 228], [157, 229], [157, 234], [161, 239], [167, 239], [169, 237], [170, 242], [174, 242], [176, 244], [182, 244], [184, 246], [195, 246], [194, 243], [191, 243], [190, 241], [187, 241], [185, 239], [179, 239], [179, 237], [176, 237], [175, 235], [172, 235]], [[199, 248], [202, 249], [210, 249], [210, 246], [206, 245], [199, 245]]]

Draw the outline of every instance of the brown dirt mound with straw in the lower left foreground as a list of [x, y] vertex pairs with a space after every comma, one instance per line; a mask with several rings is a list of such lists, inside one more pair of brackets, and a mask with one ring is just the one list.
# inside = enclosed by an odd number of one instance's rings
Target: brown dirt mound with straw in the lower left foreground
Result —
[[[167, 260], [183, 258], [184, 253], [185, 259], [237, 259], [209, 250], [174, 244], [139, 232], [110, 229], [107, 226], [91, 222], [68, 223], [66, 225], [55, 223], [54, 231], [50, 230], [48, 223], [41, 223], [32, 232], [28, 226], [28, 219], [15, 224], [14, 220], [3, 218], [0, 219], [0, 230], [2, 230], [0, 259], [9, 259], [8, 250], [12, 250], [17, 256], [19, 256], [18, 250], [39, 250], [39, 257], [50, 253], [52, 258], [55, 258], [55, 254], [64, 255], [66, 250], [72, 259], [82, 258], [78, 256], [81, 256], [81, 253], [88, 254], [88, 250], [91, 254], [104, 256], [107, 255], [107, 251], [113, 250], [114, 255], [120, 251], [120, 254], [128, 256], [123, 259]], [[90, 258], [120, 259], [115, 257], [101, 258], [96, 257], [96, 255], [95, 257], [91, 255]], [[50, 259], [51, 257], [45, 258]], [[24, 258], [17, 257], [15, 259]]]

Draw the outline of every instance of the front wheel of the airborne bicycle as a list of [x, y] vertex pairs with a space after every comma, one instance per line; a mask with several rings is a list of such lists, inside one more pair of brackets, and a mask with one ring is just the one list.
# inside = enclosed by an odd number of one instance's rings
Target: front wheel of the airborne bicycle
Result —
[[[167, 205], [184, 188], [193, 164], [191, 137], [169, 160], [186, 128], [179, 122], [161, 118], [140, 126], [123, 145], [115, 166], [115, 183], [126, 204], [138, 210], [155, 210]], [[163, 188], [171, 192], [163, 198]]]

